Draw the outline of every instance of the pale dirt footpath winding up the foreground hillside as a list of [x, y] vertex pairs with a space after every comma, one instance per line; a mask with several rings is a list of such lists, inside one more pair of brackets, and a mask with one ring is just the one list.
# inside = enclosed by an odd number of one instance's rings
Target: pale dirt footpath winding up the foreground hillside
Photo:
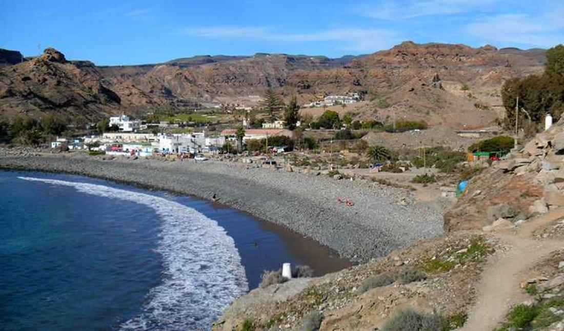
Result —
[[496, 234], [509, 250], [497, 251], [484, 266], [475, 304], [460, 330], [493, 330], [503, 321], [510, 306], [530, 298], [519, 287], [523, 274], [550, 252], [564, 249], [561, 240], [535, 240], [531, 234], [562, 217], [564, 209], [557, 209], [525, 223], [517, 232]]

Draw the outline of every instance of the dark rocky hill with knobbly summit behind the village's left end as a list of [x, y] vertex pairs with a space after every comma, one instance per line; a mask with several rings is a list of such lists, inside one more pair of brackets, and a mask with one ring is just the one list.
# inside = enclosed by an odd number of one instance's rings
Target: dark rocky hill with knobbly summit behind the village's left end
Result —
[[53, 112], [88, 120], [118, 111], [120, 102], [94, 65], [77, 66], [53, 48], [0, 69], [0, 118]]

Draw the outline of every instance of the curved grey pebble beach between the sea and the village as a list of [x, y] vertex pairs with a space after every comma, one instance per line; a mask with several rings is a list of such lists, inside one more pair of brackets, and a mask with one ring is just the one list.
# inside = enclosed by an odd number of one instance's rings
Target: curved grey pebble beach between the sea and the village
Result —
[[[85, 175], [209, 201], [216, 195], [215, 202], [287, 227], [352, 263], [382, 257], [417, 239], [443, 234], [443, 210], [413, 200], [402, 189], [380, 184], [218, 161], [108, 159], [6, 150], [0, 152], [0, 169]], [[338, 197], [351, 198], [355, 206], [337, 204]], [[398, 201], [406, 197], [409, 205], [400, 205]]]

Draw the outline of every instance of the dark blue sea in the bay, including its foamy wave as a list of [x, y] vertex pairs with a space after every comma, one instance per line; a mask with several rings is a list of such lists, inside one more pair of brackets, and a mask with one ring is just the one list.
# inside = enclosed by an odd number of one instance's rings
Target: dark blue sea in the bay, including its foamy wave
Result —
[[197, 198], [0, 171], [0, 329], [202, 330], [283, 262], [348, 262]]

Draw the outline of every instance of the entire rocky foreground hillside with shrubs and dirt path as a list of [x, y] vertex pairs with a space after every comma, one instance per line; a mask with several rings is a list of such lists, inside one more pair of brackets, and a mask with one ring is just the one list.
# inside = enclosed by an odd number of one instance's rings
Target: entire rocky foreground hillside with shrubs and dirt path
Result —
[[564, 119], [473, 178], [444, 222], [385, 258], [252, 290], [213, 329], [564, 330]]

